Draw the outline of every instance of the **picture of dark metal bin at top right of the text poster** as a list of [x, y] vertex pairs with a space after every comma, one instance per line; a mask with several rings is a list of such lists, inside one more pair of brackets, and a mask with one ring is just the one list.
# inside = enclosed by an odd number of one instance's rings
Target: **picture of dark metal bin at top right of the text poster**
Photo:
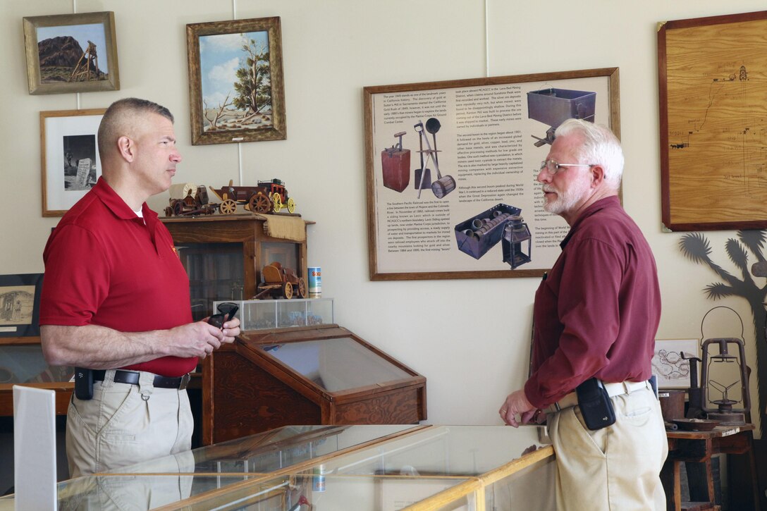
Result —
[[568, 119], [583, 119], [594, 122], [597, 93], [571, 91], [570, 89], [541, 89], [528, 92], [528, 117], [548, 124], [546, 137], [535, 138], [535, 147], [554, 142], [554, 132]]

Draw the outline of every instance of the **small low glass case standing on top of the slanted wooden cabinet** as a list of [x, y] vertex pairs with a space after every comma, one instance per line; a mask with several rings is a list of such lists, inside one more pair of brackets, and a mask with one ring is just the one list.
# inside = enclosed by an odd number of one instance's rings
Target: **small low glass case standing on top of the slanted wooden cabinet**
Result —
[[290, 300], [222, 300], [213, 302], [211, 314], [220, 303], [239, 306], [242, 331], [296, 326], [332, 325], [333, 298], [291, 298]]

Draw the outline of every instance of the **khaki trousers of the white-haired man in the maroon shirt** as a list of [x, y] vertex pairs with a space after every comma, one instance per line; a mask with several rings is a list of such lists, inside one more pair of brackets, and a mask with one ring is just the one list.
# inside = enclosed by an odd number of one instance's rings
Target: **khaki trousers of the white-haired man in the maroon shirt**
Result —
[[650, 389], [611, 397], [615, 424], [591, 431], [580, 407], [548, 416], [557, 460], [559, 511], [666, 509], [660, 469], [668, 441]]

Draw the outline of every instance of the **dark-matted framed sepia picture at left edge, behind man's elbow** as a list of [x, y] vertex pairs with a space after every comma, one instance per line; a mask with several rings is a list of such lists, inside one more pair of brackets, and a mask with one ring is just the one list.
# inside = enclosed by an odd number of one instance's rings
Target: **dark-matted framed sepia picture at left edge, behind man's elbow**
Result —
[[0, 337], [40, 335], [42, 273], [0, 275]]

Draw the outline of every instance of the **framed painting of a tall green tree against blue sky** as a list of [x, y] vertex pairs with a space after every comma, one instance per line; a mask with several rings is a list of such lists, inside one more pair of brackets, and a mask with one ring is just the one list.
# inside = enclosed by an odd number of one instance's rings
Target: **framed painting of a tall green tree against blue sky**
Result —
[[186, 25], [192, 143], [285, 140], [280, 18]]

